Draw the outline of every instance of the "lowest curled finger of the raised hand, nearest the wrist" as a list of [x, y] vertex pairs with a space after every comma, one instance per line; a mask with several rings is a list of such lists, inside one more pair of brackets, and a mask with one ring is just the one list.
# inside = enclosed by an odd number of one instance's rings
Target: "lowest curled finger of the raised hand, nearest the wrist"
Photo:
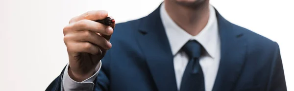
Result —
[[70, 42], [67, 44], [68, 52], [74, 53], [90, 53], [96, 55], [101, 52], [97, 45], [93, 45], [89, 42]]

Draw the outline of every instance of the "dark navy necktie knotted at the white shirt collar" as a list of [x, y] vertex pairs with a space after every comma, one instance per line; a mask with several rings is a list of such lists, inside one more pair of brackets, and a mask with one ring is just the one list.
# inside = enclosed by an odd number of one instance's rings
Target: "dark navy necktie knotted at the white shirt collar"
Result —
[[199, 64], [202, 46], [195, 40], [187, 42], [182, 50], [189, 56], [180, 91], [205, 91], [204, 76]]

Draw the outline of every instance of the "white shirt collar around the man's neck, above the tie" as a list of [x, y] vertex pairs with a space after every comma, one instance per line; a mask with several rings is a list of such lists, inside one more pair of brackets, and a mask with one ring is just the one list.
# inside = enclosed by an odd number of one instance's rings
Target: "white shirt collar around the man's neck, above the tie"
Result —
[[209, 6], [209, 10], [210, 16], [208, 23], [198, 35], [192, 36], [173, 22], [165, 9], [164, 3], [162, 3], [160, 7], [160, 17], [167, 33], [173, 55], [175, 55], [189, 40], [196, 40], [204, 47], [208, 55], [212, 58], [216, 56], [220, 43], [218, 24], [215, 9], [212, 5]]

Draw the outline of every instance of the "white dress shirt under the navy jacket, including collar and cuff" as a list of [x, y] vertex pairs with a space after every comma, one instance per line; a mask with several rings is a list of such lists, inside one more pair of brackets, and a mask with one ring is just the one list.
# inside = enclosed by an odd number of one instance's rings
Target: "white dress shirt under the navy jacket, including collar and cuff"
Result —
[[[208, 23], [198, 35], [192, 36], [172, 21], [165, 10], [164, 3], [162, 3], [160, 7], [160, 17], [166, 30], [167, 37], [171, 45], [172, 54], [174, 56], [173, 65], [178, 90], [180, 90], [182, 76], [184, 74], [186, 65], [188, 64], [188, 56], [180, 49], [189, 40], [196, 40], [206, 50], [205, 55], [201, 56], [199, 60], [204, 74], [205, 91], [212, 91], [220, 63], [221, 41], [218, 33], [218, 23], [215, 9], [211, 5], [209, 6], [209, 9], [210, 16]], [[97, 77], [100, 68], [101, 61], [95, 69], [97, 72], [93, 76], [82, 82], [76, 82], [68, 75], [67, 65], [62, 77], [62, 91], [73, 91], [74, 89], [76, 90], [78, 88], [88, 88], [89, 91], [92, 91], [94, 88], [93, 81]]]

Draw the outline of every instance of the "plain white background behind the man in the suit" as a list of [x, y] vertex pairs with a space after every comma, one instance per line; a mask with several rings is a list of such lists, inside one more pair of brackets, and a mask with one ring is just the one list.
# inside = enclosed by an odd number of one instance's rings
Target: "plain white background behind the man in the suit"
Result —
[[[45, 91], [68, 62], [62, 29], [90, 10], [118, 23], [141, 18], [162, 0], [0, 0], [0, 91]], [[288, 91], [294, 91], [294, 1], [211, 0], [221, 15], [280, 45]]]

